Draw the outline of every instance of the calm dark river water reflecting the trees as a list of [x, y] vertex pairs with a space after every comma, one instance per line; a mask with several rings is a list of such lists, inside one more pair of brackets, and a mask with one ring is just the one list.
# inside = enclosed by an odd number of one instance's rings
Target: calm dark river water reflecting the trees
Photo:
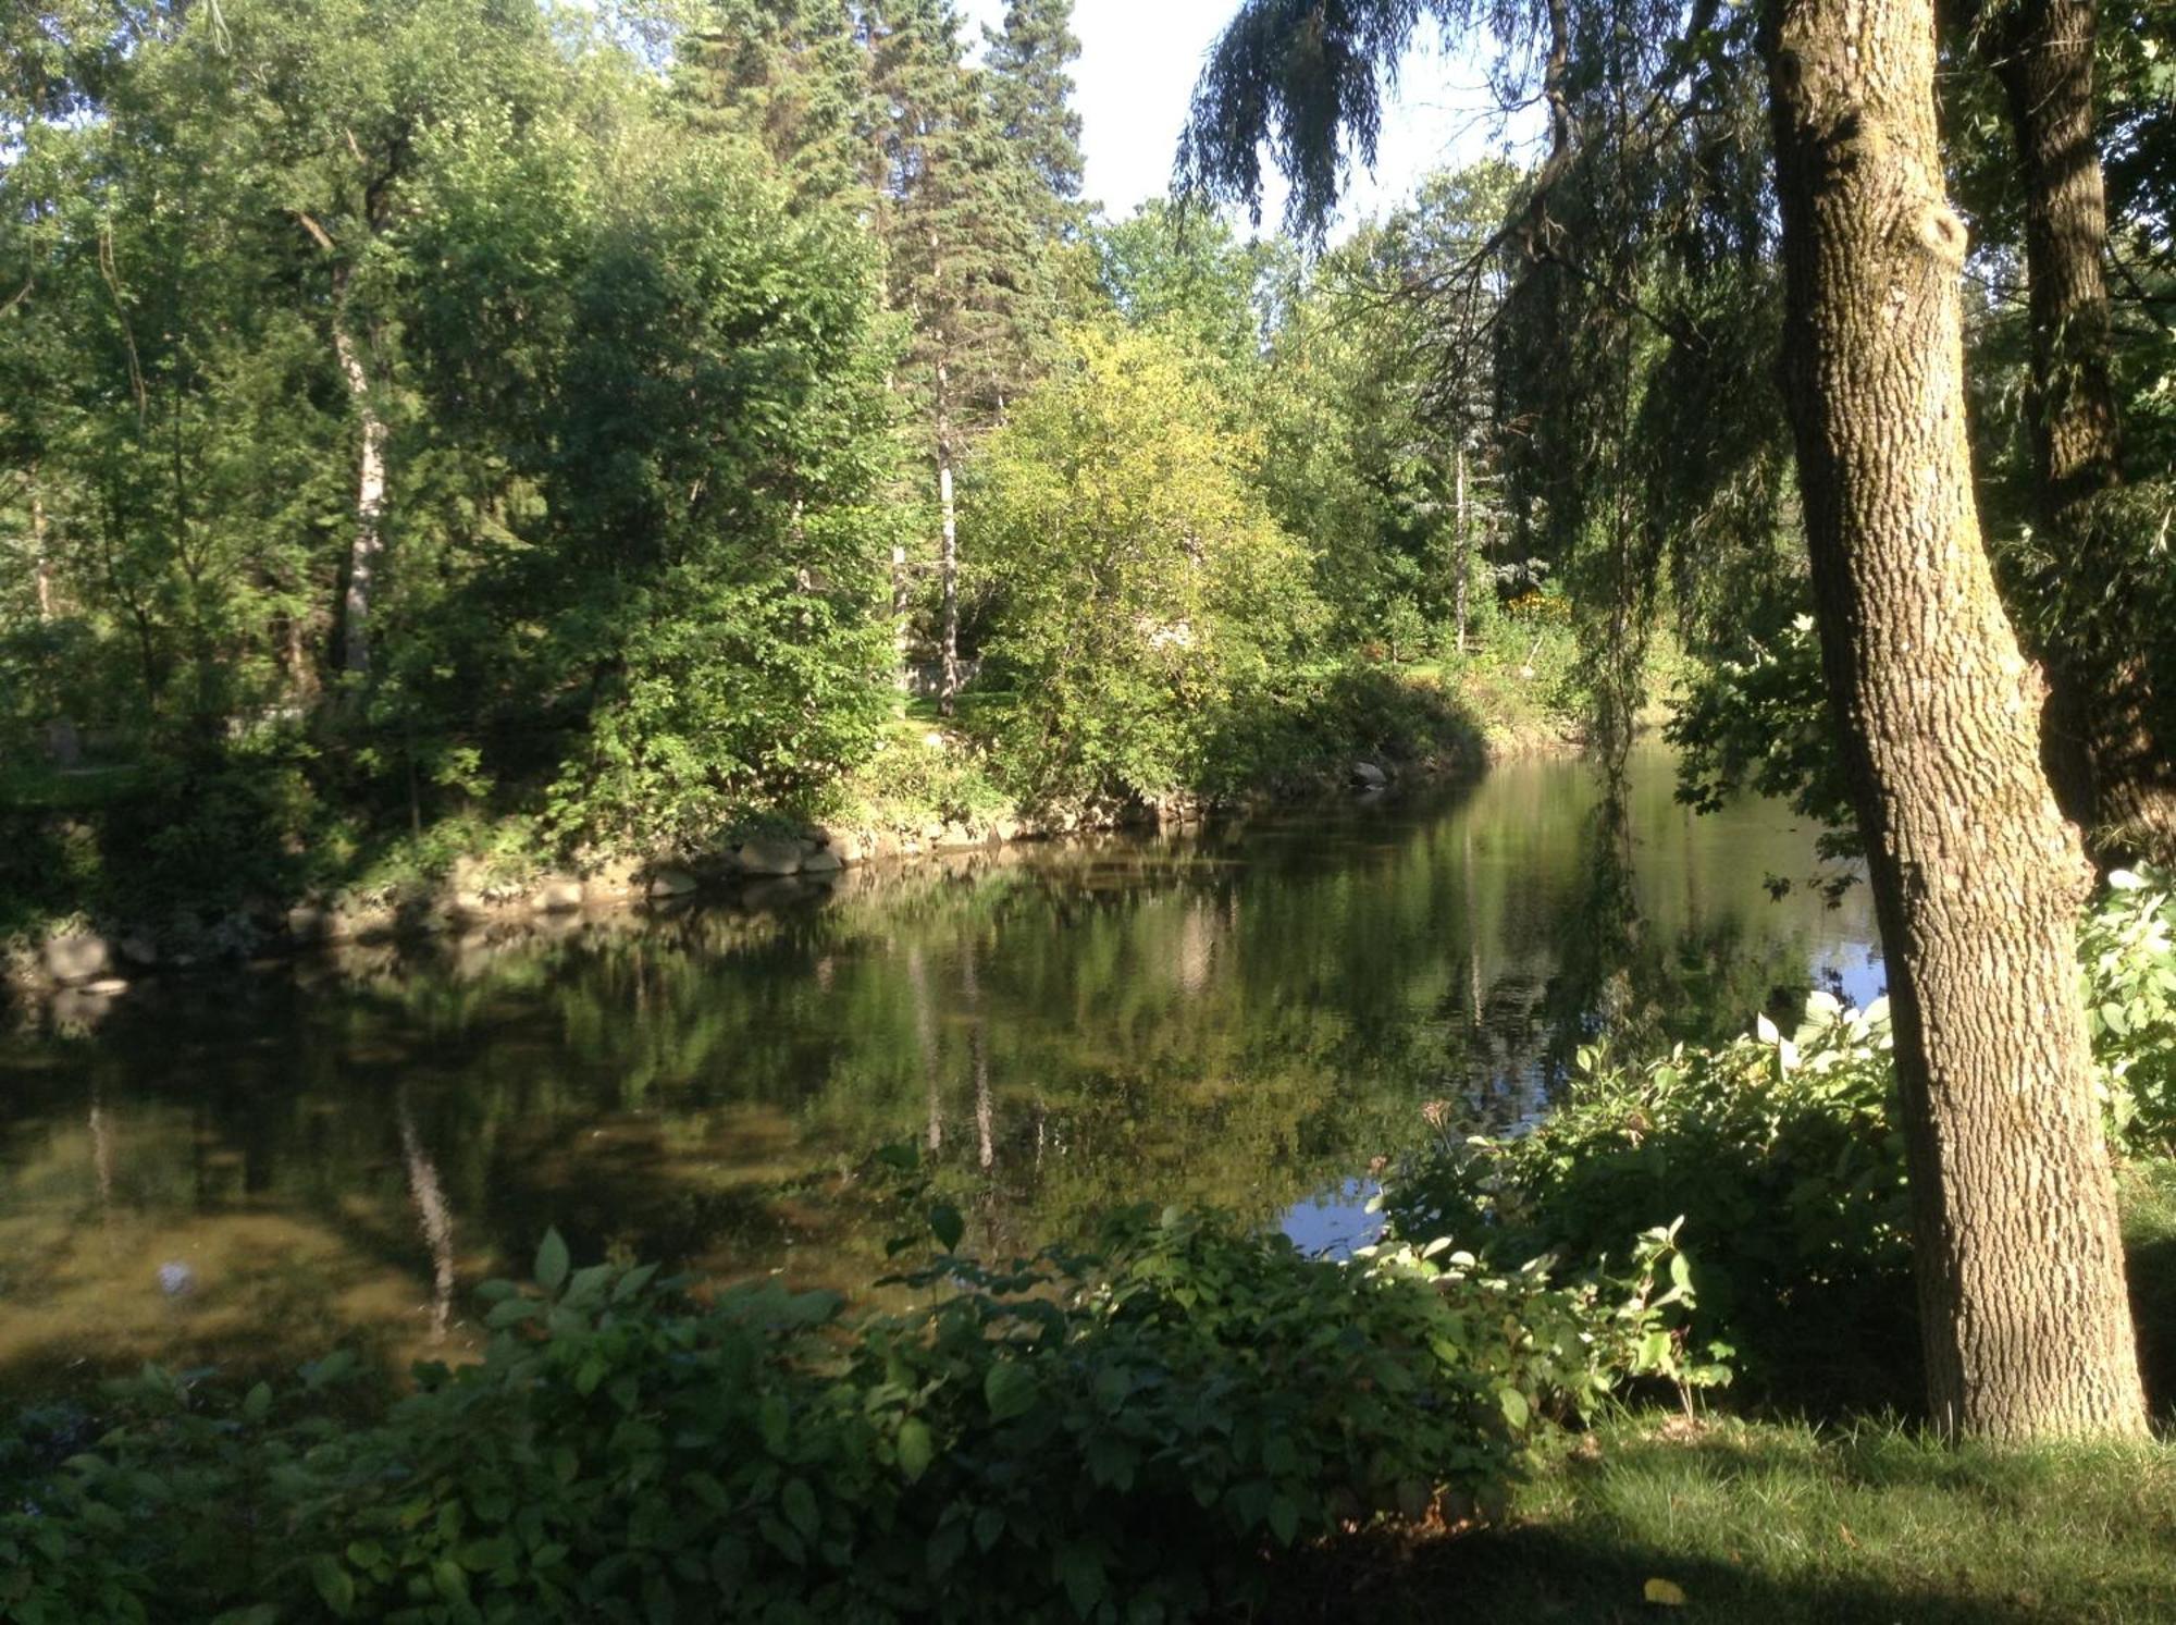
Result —
[[546, 1224], [860, 1283], [894, 1224], [857, 1170], [903, 1139], [986, 1250], [1123, 1200], [1349, 1242], [1423, 1107], [1528, 1120], [1602, 1019], [1699, 1037], [1878, 991], [1860, 891], [1763, 884], [1813, 871], [1813, 830], [1669, 789], [1643, 752], [1610, 817], [1586, 767], [1512, 762], [44, 1019], [0, 1037], [0, 1390], [457, 1351], [468, 1287]]

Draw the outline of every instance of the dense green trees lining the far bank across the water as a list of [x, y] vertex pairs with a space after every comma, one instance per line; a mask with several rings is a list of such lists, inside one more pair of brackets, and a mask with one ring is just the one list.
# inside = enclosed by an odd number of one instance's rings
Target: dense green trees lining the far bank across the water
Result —
[[1362, 309], [1508, 174], [1319, 266], [1095, 218], [1053, 0], [0, 46], [0, 928], [1469, 756], [1469, 662], [1573, 708]]

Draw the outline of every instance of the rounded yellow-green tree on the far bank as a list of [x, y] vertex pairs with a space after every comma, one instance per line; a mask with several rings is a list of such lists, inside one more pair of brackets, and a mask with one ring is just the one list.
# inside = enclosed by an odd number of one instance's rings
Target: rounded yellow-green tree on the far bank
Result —
[[975, 471], [970, 534], [1018, 695], [999, 758], [1027, 799], [1162, 797], [1206, 728], [1306, 649], [1299, 549], [1247, 484], [1253, 451], [1173, 342], [1081, 329]]

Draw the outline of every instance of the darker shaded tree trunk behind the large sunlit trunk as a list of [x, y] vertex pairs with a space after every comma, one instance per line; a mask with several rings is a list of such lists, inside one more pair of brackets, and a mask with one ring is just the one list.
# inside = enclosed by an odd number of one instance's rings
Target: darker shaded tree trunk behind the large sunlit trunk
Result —
[[2154, 695], [2137, 638], [2111, 610], [2122, 542], [2100, 499], [2122, 484], [2109, 377], [2109, 207], [2093, 135], [2093, 0], [1995, 0], [1980, 48], [2008, 102], [2026, 194], [2026, 296], [2039, 525], [2091, 614], [2052, 649], [2056, 789], [2113, 852], [2176, 852], [2176, 780], [2154, 741]]

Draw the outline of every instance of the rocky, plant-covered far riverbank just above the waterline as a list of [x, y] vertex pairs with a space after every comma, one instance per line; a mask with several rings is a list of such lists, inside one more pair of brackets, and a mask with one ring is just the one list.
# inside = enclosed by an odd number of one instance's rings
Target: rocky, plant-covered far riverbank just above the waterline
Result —
[[[1258, 741], [1236, 769], [1203, 784], [1158, 797], [1029, 804], [1007, 795], [1003, 760], [968, 721], [979, 704], [988, 701], [970, 699], [964, 719], [940, 719], [927, 701], [901, 706], [873, 758], [809, 815], [762, 812], [705, 841], [633, 854], [555, 847], [527, 817], [466, 817], [376, 843], [342, 830], [318, 843], [289, 836], [281, 863], [235, 865], [252, 873], [248, 884], [174, 884], [154, 850], [168, 832], [131, 830], [137, 786], [115, 773], [85, 778], [91, 789], [70, 804], [39, 784], [35, 795], [15, 797], [11, 817], [26, 826], [15, 845], [44, 845], [63, 860], [39, 878], [39, 895], [15, 900], [15, 917], [0, 928], [0, 965], [17, 1000], [61, 1000], [70, 1006], [63, 1015], [81, 1017], [135, 980], [168, 972], [335, 945], [503, 941], [705, 895], [783, 900], [794, 887], [829, 887], [868, 865], [1186, 828], [1578, 745], [1560, 695], [1532, 673], [1484, 662], [1408, 667], [1371, 673], [1327, 714], [1290, 719], [1282, 736]], [[37, 834], [28, 826], [39, 826]], [[137, 850], [144, 845], [152, 850]]]

